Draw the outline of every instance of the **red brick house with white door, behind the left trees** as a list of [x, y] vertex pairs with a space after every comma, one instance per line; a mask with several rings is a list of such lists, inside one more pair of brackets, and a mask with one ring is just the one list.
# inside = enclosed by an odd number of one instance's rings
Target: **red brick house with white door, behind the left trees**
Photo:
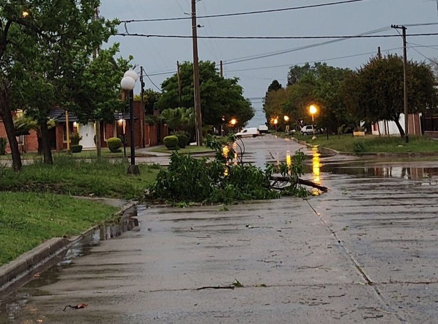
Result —
[[[14, 113], [17, 117], [21, 111]], [[56, 126], [49, 129], [49, 143], [52, 150], [63, 151], [67, 149], [67, 124], [65, 110], [53, 108], [49, 118], [56, 121]], [[155, 146], [162, 143], [167, 136], [167, 125], [147, 125], [144, 122], [141, 102], [134, 101], [134, 144], [136, 147]], [[73, 114], [68, 114], [69, 132], [78, 132], [81, 136], [80, 145], [84, 150], [95, 149], [95, 123], [90, 121], [86, 124], [79, 122]], [[101, 122], [100, 138], [101, 146], [107, 147], [106, 140], [111, 137], [119, 137], [125, 134], [127, 146], [131, 146], [131, 120], [129, 113], [114, 113], [113, 122]], [[0, 137], [6, 137], [3, 122], [0, 119]], [[31, 130], [28, 135], [18, 136], [22, 152], [36, 152], [38, 150], [38, 139], [36, 132]], [[9, 147], [9, 145], [8, 145]], [[7, 149], [9, 152], [9, 148]]]

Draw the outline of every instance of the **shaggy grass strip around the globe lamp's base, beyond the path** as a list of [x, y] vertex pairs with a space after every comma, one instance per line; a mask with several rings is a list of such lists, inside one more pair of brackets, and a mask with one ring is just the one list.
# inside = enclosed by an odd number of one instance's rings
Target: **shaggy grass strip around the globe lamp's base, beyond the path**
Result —
[[127, 164], [58, 157], [54, 165], [34, 162], [20, 173], [0, 169], [0, 191], [52, 192], [66, 195], [138, 199], [155, 181], [159, 167], [139, 165], [140, 176], [127, 175]]

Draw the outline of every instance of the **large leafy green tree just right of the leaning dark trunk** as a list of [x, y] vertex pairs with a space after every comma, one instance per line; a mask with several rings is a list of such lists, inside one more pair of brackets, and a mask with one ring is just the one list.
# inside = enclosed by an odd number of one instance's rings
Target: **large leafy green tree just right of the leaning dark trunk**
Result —
[[[39, 123], [44, 161], [48, 164], [53, 163], [47, 129], [48, 112], [71, 100], [68, 97], [69, 85], [77, 84], [75, 79], [83, 72], [81, 64], [86, 62], [94, 48], [117, 32], [117, 20], [97, 18], [92, 21], [97, 6], [99, 0], [82, 0], [80, 3], [69, 0], [7, 1], [7, 6], [1, 11], [1, 21], [5, 22], [2, 24], [3, 35], [8, 24], [20, 26], [14, 29], [17, 37], [7, 36], [6, 43], [10, 46], [0, 52], [4, 70], [8, 71], [6, 80], [12, 85], [12, 91], [20, 93], [16, 107], [25, 108], [27, 115]], [[23, 51], [29, 55], [20, 55]], [[21, 67], [20, 77], [13, 73], [17, 74], [18, 67]], [[3, 88], [10, 91], [11, 87]], [[10, 94], [2, 97], [11, 98]], [[8, 109], [7, 105], [3, 106]], [[10, 105], [9, 111], [5, 109], [2, 109], [2, 116], [10, 114]]]

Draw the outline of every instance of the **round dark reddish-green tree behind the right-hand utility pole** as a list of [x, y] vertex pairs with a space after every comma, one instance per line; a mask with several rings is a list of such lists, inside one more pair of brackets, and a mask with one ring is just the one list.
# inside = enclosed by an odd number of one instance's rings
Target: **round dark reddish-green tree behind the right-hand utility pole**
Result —
[[[431, 66], [425, 62], [409, 61], [407, 84], [410, 114], [436, 108], [436, 79]], [[392, 120], [400, 135], [405, 135], [399, 121], [404, 112], [403, 59], [399, 56], [371, 58], [357, 73], [345, 80], [342, 98], [353, 109], [357, 118], [367, 122]]]

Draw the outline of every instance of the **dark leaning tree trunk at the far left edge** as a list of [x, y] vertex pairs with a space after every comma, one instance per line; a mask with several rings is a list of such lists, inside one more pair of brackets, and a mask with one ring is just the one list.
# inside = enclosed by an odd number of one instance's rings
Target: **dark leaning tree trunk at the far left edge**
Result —
[[15, 136], [14, 120], [11, 115], [11, 107], [9, 106], [9, 97], [7, 88], [3, 85], [0, 90], [0, 116], [3, 119], [4, 128], [6, 130], [7, 139], [12, 155], [12, 167], [14, 171], [21, 171], [21, 156], [18, 148], [17, 137]]

